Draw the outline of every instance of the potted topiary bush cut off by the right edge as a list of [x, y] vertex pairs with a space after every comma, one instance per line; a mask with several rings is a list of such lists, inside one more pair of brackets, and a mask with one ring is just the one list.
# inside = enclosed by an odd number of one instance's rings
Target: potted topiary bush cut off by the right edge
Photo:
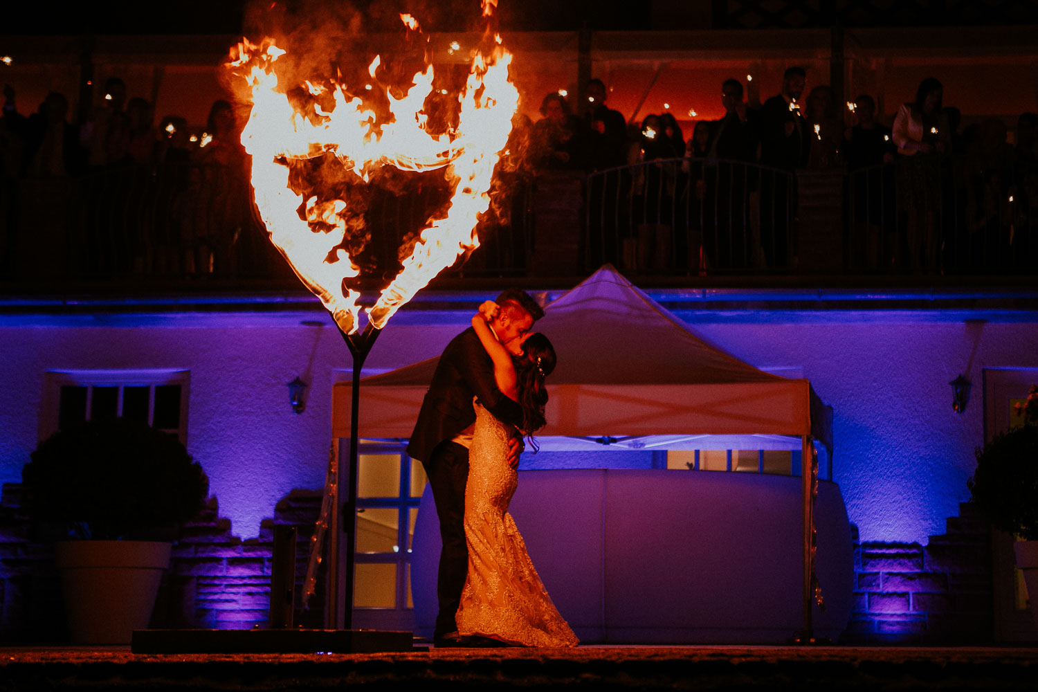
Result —
[[1016, 412], [1023, 424], [977, 449], [977, 470], [967, 485], [992, 526], [1022, 538], [1013, 544], [1016, 566], [1038, 625], [1038, 385]]

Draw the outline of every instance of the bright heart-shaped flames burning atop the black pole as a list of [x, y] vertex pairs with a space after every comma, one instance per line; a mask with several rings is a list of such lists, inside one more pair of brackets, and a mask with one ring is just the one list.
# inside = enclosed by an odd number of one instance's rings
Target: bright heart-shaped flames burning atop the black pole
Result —
[[[485, 2], [485, 11], [494, 4], [493, 0]], [[413, 18], [402, 15], [401, 20], [416, 30]], [[413, 25], [417, 27], [417, 22]], [[311, 196], [303, 204], [306, 220], [300, 219], [297, 210], [303, 200], [289, 188], [289, 168], [278, 161], [333, 154], [364, 182], [385, 165], [407, 171], [444, 170], [454, 190], [444, 216], [432, 219], [422, 229], [412, 254], [402, 261], [403, 271], [367, 310], [368, 321], [383, 328], [400, 306], [440, 271], [463, 252], [479, 247], [475, 226], [489, 206], [494, 166], [512, 131], [519, 102], [509, 79], [512, 55], [498, 43], [494, 46], [490, 55], [473, 52], [468, 80], [458, 96], [457, 128], [442, 135], [426, 131], [428, 113], [422, 110], [433, 88], [432, 65], [416, 73], [411, 87], [399, 99], [388, 88], [378, 87], [384, 90], [390, 112], [380, 120], [340, 84], [325, 94], [332, 96], [333, 107], [325, 110], [312, 105], [306, 112], [296, 111], [284, 89], [278, 88], [274, 64], [284, 51], [272, 39], [260, 46], [243, 39], [237, 56], [231, 51], [229, 66], [247, 68], [242, 76], [251, 87], [252, 111], [242, 132], [242, 144], [252, 156], [256, 207], [271, 242], [344, 333], [357, 331], [360, 311], [359, 293], [343, 286], [344, 279], [354, 278], [360, 271], [340, 247], [346, 233], [342, 213], [347, 202], [319, 202]], [[368, 67], [373, 80], [377, 80], [380, 62], [376, 57]], [[328, 102], [323, 103], [327, 107]], [[315, 232], [311, 222], [334, 230]]]

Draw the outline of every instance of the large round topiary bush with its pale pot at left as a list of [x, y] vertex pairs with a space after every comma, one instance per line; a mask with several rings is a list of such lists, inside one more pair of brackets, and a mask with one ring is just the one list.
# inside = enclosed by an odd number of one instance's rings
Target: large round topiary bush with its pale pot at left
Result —
[[43, 441], [22, 469], [23, 506], [56, 538], [73, 641], [129, 643], [147, 627], [170, 542], [209, 479], [175, 436], [126, 418]]

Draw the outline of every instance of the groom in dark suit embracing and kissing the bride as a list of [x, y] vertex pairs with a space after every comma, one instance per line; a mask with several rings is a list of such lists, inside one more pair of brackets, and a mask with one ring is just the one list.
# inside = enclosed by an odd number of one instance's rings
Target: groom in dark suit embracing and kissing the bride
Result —
[[[490, 323], [490, 329], [501, 343], [521, 337], [534, 322], [544, 316], [541, 306], [518, 288], [504, 290], [495, 302], [500, 310]], [[475, 423], [473, 396], [497, 419], [516, 426], [522, 422], [522, 409], [497, 388], [490, 356], [469, 327], [443, 350], [407, 446], [407, 453], [426, 467], [443, 541], [436, 582], [439, 601], [439, 614], [433, 630], [436, 646], [460, 643], [455, 613], [468, 571], [465, 481], [468, 478], [468, 447]], [[513, 467], [519, 463], [522, 446], [521, 436], [510, 441], [509, 464]]]

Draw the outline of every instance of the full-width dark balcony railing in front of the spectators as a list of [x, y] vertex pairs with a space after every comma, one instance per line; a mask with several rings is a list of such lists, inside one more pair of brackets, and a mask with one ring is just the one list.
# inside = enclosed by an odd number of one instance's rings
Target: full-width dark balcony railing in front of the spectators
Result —
[[[482, 247], [447, 275], [575, 276], [612, 262], [652, 277], [1036, 276], [1038, 170], [961, 158], [850, 173], [796, 173], [706, 159], [650, 161], [503, 181]], [[357, 261], [375, 281], [442, 207], [442, 182], [371, 193]], [[295, 285], [258, 221], [244, 171], [213, 165], [99, 169], [8, 181], [0, 191], [3, 279], [195, 279]], [[567, 239], [572, 239], [572, 242]]]

